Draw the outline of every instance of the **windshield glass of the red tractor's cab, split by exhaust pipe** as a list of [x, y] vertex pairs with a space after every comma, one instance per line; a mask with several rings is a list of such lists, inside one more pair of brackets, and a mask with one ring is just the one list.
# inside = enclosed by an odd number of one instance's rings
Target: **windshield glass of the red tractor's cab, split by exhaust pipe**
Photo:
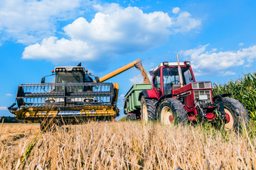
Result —
[[[182, 77], [183, 77], [183, 84], [190, 84], [193, 82], [193, 77], [191, 74], [191, 70], [189, 67], [181, 67]], [[163, 68], [163, 83], [164, 83], [164, 94], [170, 92], [171, 87], [174, 84], [180, 85], [180, 79], [178, 77], [178, 67], [166, 67]]]

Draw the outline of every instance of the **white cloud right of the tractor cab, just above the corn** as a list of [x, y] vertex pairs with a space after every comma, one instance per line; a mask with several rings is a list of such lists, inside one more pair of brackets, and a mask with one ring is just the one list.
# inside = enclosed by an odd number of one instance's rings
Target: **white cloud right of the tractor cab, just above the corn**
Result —
[[233, 75], [235, 73], [227, 71], [227, 69], [239, 66], [249, 67], [250, 63], [256, 58], [256, 45], [242, 48], [236, 52], [214, 52], [214, 50], [208, 52], [206, 51], [208, 45], [180, 52], [184, 56], [191, 57], [191, 64], [197, 75], [213, 73], [223, 76]]

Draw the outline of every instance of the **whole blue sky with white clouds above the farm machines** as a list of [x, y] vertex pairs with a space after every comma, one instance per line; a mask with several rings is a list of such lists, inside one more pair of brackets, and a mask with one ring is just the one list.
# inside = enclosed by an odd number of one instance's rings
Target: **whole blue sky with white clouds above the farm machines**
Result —
[[[197, 81], [224, 84], [255, 72], [256, 1], [0, 1], [0, 116], [11, 115], [19, 84], [40, 83], [55, 66], [99, 77], [138, 58], [149, 72], [190, 60]], [[46, 81], [51, 81], [46, 79]], [[137, 69], [109, 80], [122, 98]]]

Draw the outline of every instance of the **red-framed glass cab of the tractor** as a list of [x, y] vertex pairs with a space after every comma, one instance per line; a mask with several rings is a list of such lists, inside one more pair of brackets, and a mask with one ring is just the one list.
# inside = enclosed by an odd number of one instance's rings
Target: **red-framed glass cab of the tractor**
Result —
[[[181, 88], [177, 65], [177, 62], [163, 62], [151, 72], [153, 73], [153, 86], [160, 96], [172, 94], [173, 90]], [[190, 62], [180, 63], [180, 66], [183, 85], [196, 81]]]

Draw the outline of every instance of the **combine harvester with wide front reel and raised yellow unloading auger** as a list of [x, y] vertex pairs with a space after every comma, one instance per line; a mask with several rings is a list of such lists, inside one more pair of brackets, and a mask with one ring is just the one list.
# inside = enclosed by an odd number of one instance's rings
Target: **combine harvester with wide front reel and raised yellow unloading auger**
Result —
[[81, 64], [77, 67], [55, 67], [49, 75], [55, 76], [52, 83], [45, 83], [43, 77], [41, 84], [18, 86], [16, 103], [9, 107], [9, 111], [21, 123], [41, 123], [41, 128], [46, 128], [46, 125], [51, 127], [55, 123], [111, 121], [119, 115], [119, 85], [103, 82], [132, 67], [142, 72], [144, 82], [150, 83], [141, 60], [131, 62], [100, 79], [88, 74]]

